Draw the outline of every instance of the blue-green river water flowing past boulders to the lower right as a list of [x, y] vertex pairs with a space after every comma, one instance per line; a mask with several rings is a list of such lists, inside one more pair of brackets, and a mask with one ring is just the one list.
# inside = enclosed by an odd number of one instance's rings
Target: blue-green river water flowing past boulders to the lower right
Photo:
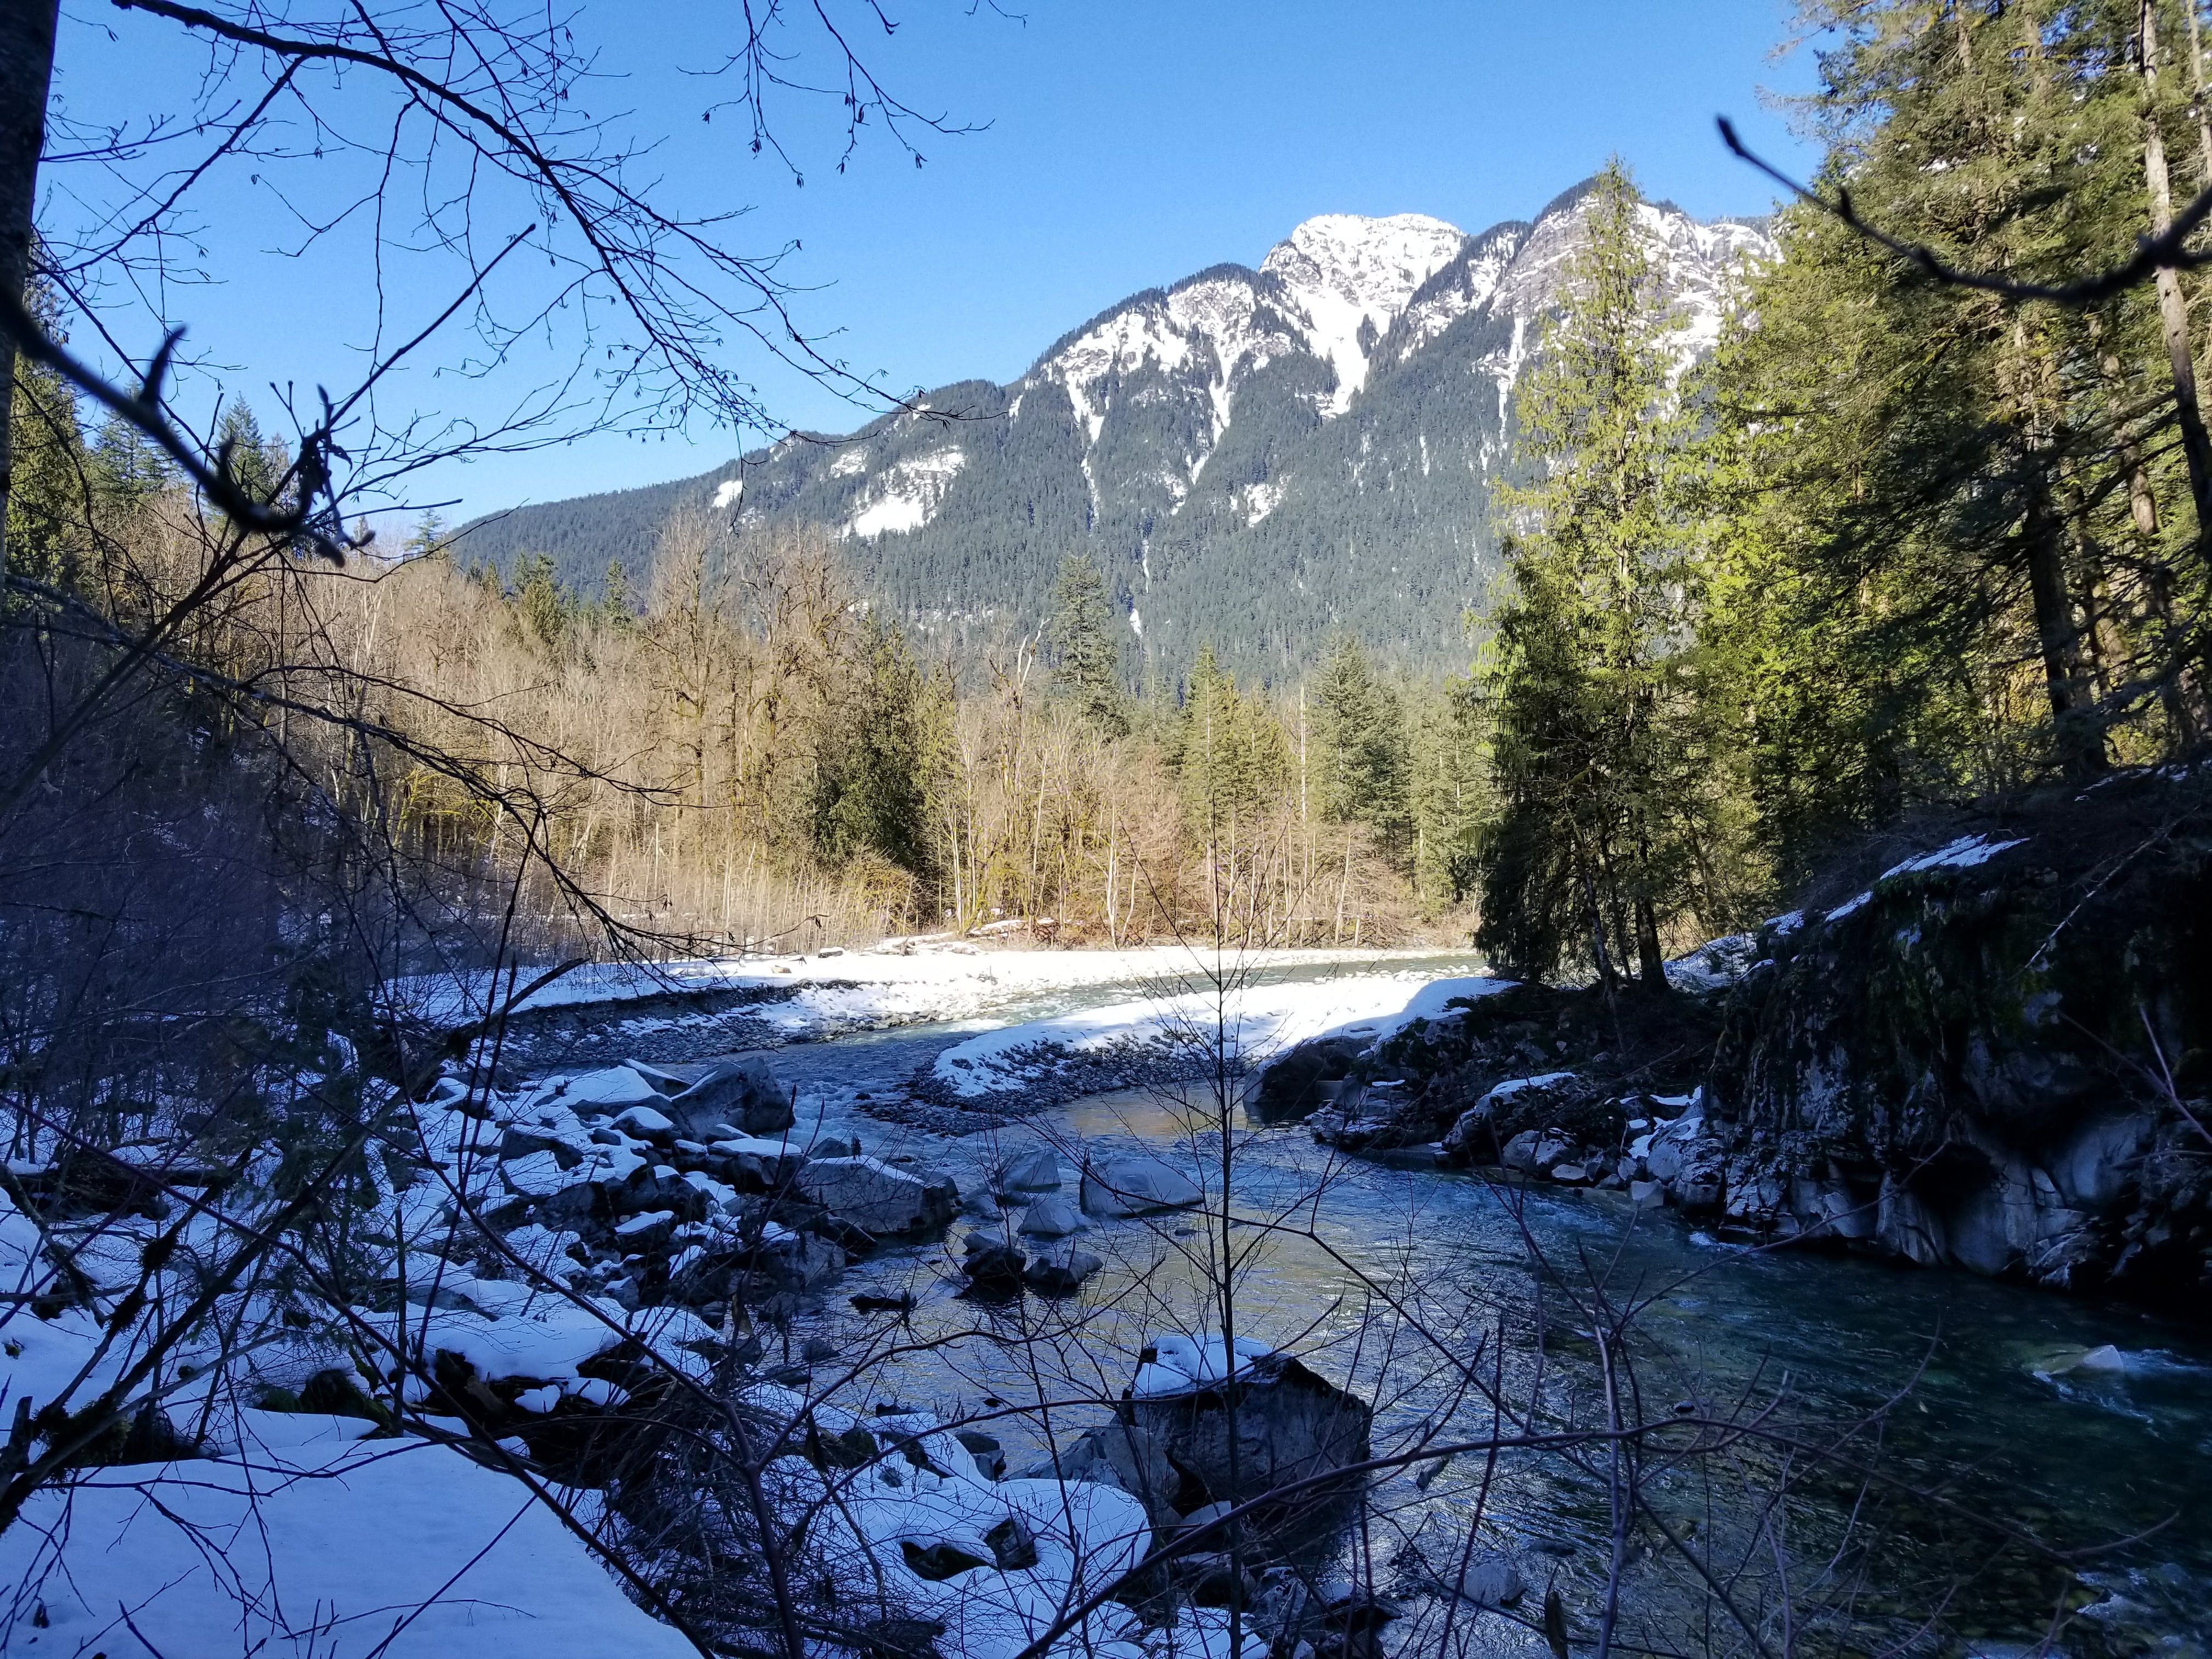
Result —
[[[1440, 960], [1431, 971], [1467, 967]], [[1126, 995], [1071, 993], [1013, 1018]], [[896, 1095], [900, 1079], [973, 1029], [803, 1044], [785, 1048], [779, 1064], [818, 1106], [843, 1115], [856, 1097]], [[865, 1117], [849, 1121], [869, 1128]], [[900, 1135], [874, 1130], [869, 1150], [896, 1155]], [[1186, 1161], [1217, 1190], [1219, 1141], [1192, 1141], [1188, 1130], [1186, 1102], [1126, 1093], [916, 1150], [956, 1164], [964, 1190], [1009, 1146], [1033, 1139], [1060, 1146], [1064, 1164], [1097, 1150], [1152, 1150]], [[1234, 1146], [1232, 1210], [1248, 1225], [1232, 1245], [1252, 1250], [1239, 1276], [1239, 1329], [1312, 1354], [1329, 1376], [1365, 1383], [1363, 1391], [1378, 1398], [1378, 1447], [1438, 1413], [1458, 1411], [1460, 1427], [1482, 1427], [1469, 1422], [1464, 1400], [1442, 1398], [1444, 1378], [1422, 1365], [1427, 1349], [1407, 1336], [1407, 1305], [1462, 1347], [1500, 1343], [1502, 1334], [1502, 1354], [1486, 1352], [1504, 1367], [1506, 1394], [1533, 1378], [1537, 1349], [1546, 1347], [1531, 1336], [1535, 1250], [1562, 1283], [1599, 1272], [1615, 1298], [1652, 1298], [1637, 1345], [1650, 1356], [1646, 1383], [1661, 1411], [1677, 1391], [1699, 1411], [1781, 1391], [1792, 1420], [1840, 1425], [1896, 1400], [1882, 1416], [1878, 1464], [1885, 1475], [1940, 1491], [1913, 1500], [1891, 1493], [1874, 1504], [1885, 1528], [1880, 1571], [1929, 1597], [1993, 1555], [1991, 1535], [1969, 1515], [2062, 1548], [2148, 1533], [2081, 1562], [2079, 1582], [2017, 1553], [1980, 1571], [1949, 1595], [1953, 1652], [1958, 1639], [1980, 1655], [2026, 1652], [2059, 1606], [2084, 1604], [2093, 1604], [2090, 1613], [2064, 1628], [2057, 1650], [2177, 1659], [2212, 1652], [2212, 1332], [1960, 1272], [1732, 1248], [1670, 1212], [1635, 1217], [1613, 1194], [1504, 1190], [1478, 1175], [1438, 1170], [1425, 1157], [1340, 1161], [1298, 1126], [1254, 1130], [1239, 1119]], [[1073, 1197], [1073, 1179], [1064, 1192]], [[971, 1212], [964, 1225], [989, 1228], [987, 1217]], [[1287, 1232], [1267, 1230], [1285, 1217]], [[1088, 1396], [1088, 1407], [1053, 1418], [1064, 1436], [1071, 1425], [1102, 1418], [1128, 1383], [1146, 1332], [1217, 1323], [1206, 1287], [1219, 1241], [1201, 1219], [1091, 1223], [1077, 1243], [1108, 1261], [1077, 1303], [1024, 1298], [1002, 1307], [956, 1294], [949, 1243], [883, 1250], [838, 1281], [823, 1314], [801, 1318], [794, 1343], [814, 1336], [816, 1356], [834, 1356], [816, 1365], [823, 1378], [872, 1338], [898, 1340], [909, 1352], [869, 1365], [863, 1387], [982, 1418], [1020, 1464], [1037, 1449], [1024, 1402]], [[1409, 1303], [1380, 1307], [1369, 1294], [1376, 1283]], [[911, 1294], [916, 1307], [902, 1321], [863, 1318], [847, 1312], [856, 1292]], [[1557, 1294], [1548, 1294], [1548, 1307], [1562, 1329], [1577, 1323]], [[2110, 1352], [2088, 1367], [2077, 1363], [2099, 1349]], [[1559, 1378], [1595, 1369], [1590, 1345], [1571, 1332], [1548, 1354]], [[1752, 1502], [1765, 1475], [1772, 1469], [1750, 1471], [1752, 1484], [1723, 1493], [1723, 1506]], [[1464, 1493], [1449, 1498], [1447, 1486], [1438, 1482], [1425, 1502], [1467, 1502]], [[1827, 1537], [1856, 1498], [1851, 1482], [1829, 1478], [1807, 1480], [1792, 1502], [1809, 1506], [1805, 1535], [1814, 1540]], [[1588, 1579], [1604, 1559], [1601, 1491], [1575, 1471], [1526, 1471], [1491, 1493], [1486, 1513], [1502, 1537], [1559, 1562], [1555, 1571], [1568, 1582]], [[1878, 1601], [1869, 1597], [1863, 1610]], [[1891, 1610], [1916, 1608], [1900, 1590]]]

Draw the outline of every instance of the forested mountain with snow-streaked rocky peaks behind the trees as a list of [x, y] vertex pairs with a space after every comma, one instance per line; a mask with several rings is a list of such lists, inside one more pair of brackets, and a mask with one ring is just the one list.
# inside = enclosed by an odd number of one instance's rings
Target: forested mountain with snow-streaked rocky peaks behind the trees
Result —
[[[1175, 672], [1201, 639], [1290, 666], [1334, 628], [1438, 661], [1493, 568], [1489, 491], [1513, 387], [1582, 237], [1586, 186], [1482, 234], [1425, 215], [1323, 215], [1259, 268], [1133, 294], [1013, 385], [940, 387], [849, 438], [787, 438], [703, 478], [524, 507], [462, 557], [611, 557], [641, 577], [679, 507], [737, 529], [834, 531], [860, 580], [931, 633], [1033, 626], [1060, 560], [1099, 557], [1130, 653]], [[1752, 221], [1646, 204], [1683, 361], [1770, 252]]]

